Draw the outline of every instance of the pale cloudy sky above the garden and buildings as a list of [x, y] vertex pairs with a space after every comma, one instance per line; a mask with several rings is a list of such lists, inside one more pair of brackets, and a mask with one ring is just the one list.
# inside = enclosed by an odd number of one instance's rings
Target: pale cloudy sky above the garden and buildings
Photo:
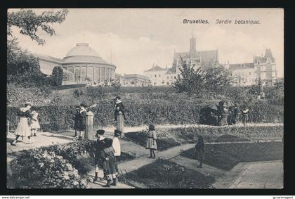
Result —
[[[36, 13], [51, 10], [60, 9], [33, 9]], [[209, 24], [188, 24], [183, 19]], [[232, 20], [232, 24], [216, 24], [217, 19]], [[259, 20], [259, 24], [236, 25], [235, 20]], [[277, 75], [284, 73], [282, 8], [79, 8], [69, 9], [63, 23], [51, 26], [54, 36], [38, 31], [46, 41], [43, 46], [19, 34], [17, 28], [13, 35], [22, 49], [56, 58], [65, 57], [79, 42], [89, 43], [124, 75], [143, 74], [154, 63], [171, 68], [174, 51], [189, 51], [194, 34], [197, 51], [218, 49], [219, 63], [251, 63], [254, 55], [271, 49]]]

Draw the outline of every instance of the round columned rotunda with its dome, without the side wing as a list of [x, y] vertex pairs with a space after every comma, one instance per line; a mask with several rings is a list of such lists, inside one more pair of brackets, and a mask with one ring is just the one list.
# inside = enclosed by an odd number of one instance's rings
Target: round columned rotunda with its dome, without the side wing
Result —
[[72, 82], [110, 83], [115, 79], [116, 66], [103, 60], [89, 44], [78, 43], [68, 51], [62, 62], [63, 69], [72, 72]]

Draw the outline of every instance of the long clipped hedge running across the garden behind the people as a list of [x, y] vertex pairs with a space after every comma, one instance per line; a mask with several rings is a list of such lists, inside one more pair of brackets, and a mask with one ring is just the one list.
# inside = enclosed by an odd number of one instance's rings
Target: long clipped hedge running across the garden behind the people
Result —
[[[126, 101], [125, 125], [129, 127], [143, 124], [197, 124], [199, 112], [205, 103], [193, 101], [137, 100]], [[254, 103], [250, 108], [252, 122], [275, 122], [283, 118], [283, 108], [266, 102]], [[74, 127], [74, 105], [51, 105], [34, 107], [39, 113], [39, 122], [46, 124], [46, 130], [65, 130]], [[94, 127], [113, 125], [114, 114], [111, 101], [103, 101], [91, 110], [94, 113]], [[12, 126], [18, 124], [18, 108], [7, 108], [7, 119]], [[44, 126], [45, 127], [45, 126]]]

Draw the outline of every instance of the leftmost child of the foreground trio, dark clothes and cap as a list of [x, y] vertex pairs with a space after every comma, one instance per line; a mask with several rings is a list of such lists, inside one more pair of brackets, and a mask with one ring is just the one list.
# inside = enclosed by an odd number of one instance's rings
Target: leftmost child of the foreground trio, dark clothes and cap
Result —
[[101, 152], [103, 151], [103, 148], [105, 148], [105, 143], [104, 139], [105, 137], [103, 136], [105, 134], [105, 130], [97, 130], [96, 131], [96, 153], [95, 153], [95, 160], [94, 164], [96, 165], [96, 176], [93, 181], [98, 181], [98, 170], [103, 169], [103, 160], [101, 158]]

